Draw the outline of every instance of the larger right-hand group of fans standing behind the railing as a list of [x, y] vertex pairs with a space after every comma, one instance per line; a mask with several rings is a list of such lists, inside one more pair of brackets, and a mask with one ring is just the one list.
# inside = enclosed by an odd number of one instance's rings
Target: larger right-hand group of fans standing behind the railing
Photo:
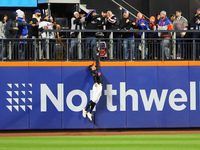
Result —
[[[100, 19], [99, 19], [100, 18]], [[84, 25], [85, 23], [85, 25]], [[151, 38], [160, 38], [160, 40], [147, 40], [146, 44], [144, 44], [144, 55], [145, 58], [148, 59], [150, 56], [154, 58], [155, 56], [160, 59], [161, 50], [164, 51], [165, 59], [171, 58], [171, 38], [172, 32], [169, 30], [199, 30], [200, 26], [200, 8], [197, 9], [194, 18], [188, 22], [188, 20], [183, 17], [182, 12], [177, 10], [175, 14], [172, 14], [168, 19], [166, 11], [161, 11], [159, 14], [155, 16], [151, 16], [149, 20], [145, 19], [144, 15], [140, 12], [137, 14], [136, 20], [133, 20], [129, 16], [128, 11], [123, 11], [123, 18], [118, 20], [117, 17], [112, 13], [111, 10], [107, 10], [106, 13], [102, 12], [101, 15], [97, 15], [95, 10], [90, 11], [87, 16], [79, 15], [78, 12], [74, 13], [74, 17], [71, 21], [72, 28], [71, 29], [108, 29], [108, 30], [152, 30], [152, 33], [146, 33], [145, 37], [148, 39]], [[80, 28], [81, 27], [81, 28]], [[153, 32], [155, 30], [168, 30], [168, 32]], [[71, 34], [74, 35], [74, 34]], [[75, 36], [77, 38], [77, 36]], [[86, 44], [91, 45], [91, 49], [95, 50], [96, 37], [95, 33], [85, 33], [84, 37], [86, 38]], [[104, 37], [108, 38], [109, 34], [104, 34]], [[186, 48], [184, 45], [185, 42], [183, 38], [199, 38], [199, 33], [194, 34], [186, 34], [186, 32], [177, 32], [176, 41], [177, 46], [177, 57], [179, 55], [182, 59], [190, 59], [191, 58], [191, 47]], [[139, 44], [141, 42], [141, 32], [137, 33], [114, 33], [114, 38], [122, 38], [122, 47], [120, 50], [123, 51], [123, 59], [129, 59], [130, 52], [132, 52], [132, 59], [138, 59], [140, 56], [139, 53]], [[118, 42], [117, 40], [115, 42]], [[149, 43], [153, 43], [151, 46], [148, 46]], [[153, 50], [155, 48], [154, 44], [159, 44], [160, 47], [157, 50], [157, 54], [153, 56]], [[73, 54], [74, 43], [72, 44], [71, 51]], [[116, 49], [117, 46], [114, 46], [113, 56], [116, 58], [116, 53], [118, 52]], [[188, 47], [188, 46], [187, 46]], [[148, 52], [146, 51], [148, 49]], [[178, 50], [180, 49], [180, 51]], [[180, 53], [179, 53], [180, 52]], [[88, 53], [88, 52], [87, 52]], [[199, 53], [199, 52], [197, 52]], [[76, 57], [71, 55], [71, 57]], [[95, 57], [95, 56], [93, 56]]]

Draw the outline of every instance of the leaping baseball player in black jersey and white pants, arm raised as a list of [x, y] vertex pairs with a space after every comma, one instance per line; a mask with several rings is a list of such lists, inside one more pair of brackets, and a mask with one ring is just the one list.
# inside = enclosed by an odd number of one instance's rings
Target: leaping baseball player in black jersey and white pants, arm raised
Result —
[[[92, 121], [92, 110], [94, 109], [95, 105], [98, 103], [101, 93], [102, 93], [102, 87], [103, 87], [103, 80], [102, 80], [102, 75], [99, 70], [99, 61], [100, 61], [100, 56], [99, 52], [97, 53], [96, 57], [96, 66], [93, 64], [88, 67], [89, 71], [91, 72], [92, 78], [94, 80], [94, 85], [93, 85], [93, 96], [92, 100], [88, 103], [87, 107], [83, 109], [83, 117], [86, 118], [86, 115], [90, 121]], [[88, 109], [90, 108], [90, 111]]]

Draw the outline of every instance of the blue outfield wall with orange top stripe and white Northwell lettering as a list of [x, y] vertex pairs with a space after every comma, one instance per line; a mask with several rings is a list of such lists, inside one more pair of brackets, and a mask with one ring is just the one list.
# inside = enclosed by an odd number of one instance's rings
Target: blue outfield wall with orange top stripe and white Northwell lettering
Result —
[[91, 62], [38, 64], [0, 63], [1, 130], [200, 127], [199, 62], [102, 63], [92, 122]]

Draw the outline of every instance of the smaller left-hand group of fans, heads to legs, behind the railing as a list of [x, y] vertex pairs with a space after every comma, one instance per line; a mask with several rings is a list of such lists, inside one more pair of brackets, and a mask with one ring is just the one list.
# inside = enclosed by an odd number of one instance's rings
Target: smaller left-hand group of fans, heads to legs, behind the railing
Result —
[[[31, 59], [33, 57], [32, 46], [27, 46], [30, 43], [23, 41], [14, 41], [13, 39], [45, 39], [47, 38], [47, 32], [45, 30], [60, 29], [60, 26], [56, 24], [52, 16], [41, 15], [41, 11], [36, 9], [32, 15], [32, 19], [27, 21], [26, 14], [18, 9], [10, 15], [0, 15], [0, 39], [6, 39], [7, 42], [12, 41], [12, 59]], [[50, 39], [59, 37], [56, 32], [48, 32]], [[32, 43], [31, 43], [32, 44]], [[38, 44], [38, 43], [37, 43]], [[33, 45], [33, 44], [32, 44]], [[43, 41], [43, 58], [46, 58], [46, 43]], [[37, 46], [38, 47], [38, 46]], [[8, 47], [4, 47], [3, 57], [8, 59]], [[52, 47], [50, 47], [52, 48]], [[22, 52], [22, 49], [24, 50]], [[22, 56], [19, 53], [23, 53]], [[2, 54], [2, 48], [1, 52]], [[2, 58], [2, 55], [1, 55]]]

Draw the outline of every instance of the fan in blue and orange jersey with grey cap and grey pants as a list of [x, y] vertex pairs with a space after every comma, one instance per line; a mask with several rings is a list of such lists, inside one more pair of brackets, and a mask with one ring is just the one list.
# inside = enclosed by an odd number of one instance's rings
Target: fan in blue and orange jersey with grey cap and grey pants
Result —
[[[173, 30], [172, 23], [167, 18], [166, 11], [160, 12], [160, 21], [158, 22], [158, 30]], [[161, 47], [162, 51], [164, 51], [166, 59], [170, 59], [170, 38], [171, 33], [170, 32], [161, 32], [159, 36], [162, 38]]]

